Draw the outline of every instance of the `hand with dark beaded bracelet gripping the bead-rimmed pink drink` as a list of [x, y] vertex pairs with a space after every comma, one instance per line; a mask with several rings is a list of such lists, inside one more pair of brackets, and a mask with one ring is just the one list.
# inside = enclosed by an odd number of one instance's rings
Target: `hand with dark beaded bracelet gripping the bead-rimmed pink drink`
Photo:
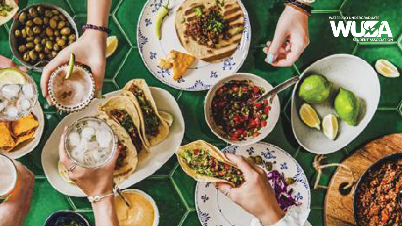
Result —
[[105, 77], [106, 66], [106, 39], [107, 33], [88, 29], [74, 43], [63, 49], [45, 68], [41, 78], [41, 89], [43, 97], [51, 105], [47, 84], [51, 73], [60, 65], [68, 64], [71, 53], [74, 52], [76, 62], [85, 64], [91, 68], [95, 80], [95, 95], [102, 92], [103, 78]]

